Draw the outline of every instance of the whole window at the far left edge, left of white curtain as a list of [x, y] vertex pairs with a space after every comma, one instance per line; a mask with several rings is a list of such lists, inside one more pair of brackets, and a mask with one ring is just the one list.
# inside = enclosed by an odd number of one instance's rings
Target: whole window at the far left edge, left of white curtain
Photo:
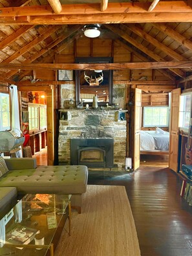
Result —
[[9, 94], [0, 93], [0, 131], [10, 129]]

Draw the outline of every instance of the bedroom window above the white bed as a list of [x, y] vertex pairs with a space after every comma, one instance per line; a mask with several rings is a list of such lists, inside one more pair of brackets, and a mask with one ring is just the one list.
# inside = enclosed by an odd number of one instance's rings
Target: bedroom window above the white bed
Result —
[[144, 107], [144, 127], [167, 127], [168, 123], [168, 107]]

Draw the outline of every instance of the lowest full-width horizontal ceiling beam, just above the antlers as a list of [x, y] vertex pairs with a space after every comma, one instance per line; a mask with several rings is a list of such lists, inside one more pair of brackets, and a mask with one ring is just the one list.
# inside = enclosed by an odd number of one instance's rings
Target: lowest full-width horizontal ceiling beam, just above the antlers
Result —
[[47, 69], [47, 70], [123, 70], [123, 69], [170, 69], [170, 68], [191, 68], [192, 61], [160, 61], [160, 62], [136, 62], [136, 63], [32, 63], [15, 64], [0, 63], [0, 69]]

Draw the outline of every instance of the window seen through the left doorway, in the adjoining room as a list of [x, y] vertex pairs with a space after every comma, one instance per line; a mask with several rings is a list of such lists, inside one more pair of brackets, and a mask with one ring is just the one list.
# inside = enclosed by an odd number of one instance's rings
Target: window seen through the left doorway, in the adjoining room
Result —
[[28, 123], [30, 132], [47, 128], [47, 106], [28, 103]]

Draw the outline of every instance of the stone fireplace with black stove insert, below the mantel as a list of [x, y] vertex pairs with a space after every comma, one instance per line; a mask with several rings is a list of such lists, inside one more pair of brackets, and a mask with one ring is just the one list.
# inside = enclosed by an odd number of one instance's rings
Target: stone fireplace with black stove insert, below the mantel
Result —
[[[126, 121], [119, 118], [122, 112], [125, 111], [59, 109], [59, 165], [121, 169], [126, 156]], [[71, 151], [73, 142], [78, 142], [76, 152]]]

